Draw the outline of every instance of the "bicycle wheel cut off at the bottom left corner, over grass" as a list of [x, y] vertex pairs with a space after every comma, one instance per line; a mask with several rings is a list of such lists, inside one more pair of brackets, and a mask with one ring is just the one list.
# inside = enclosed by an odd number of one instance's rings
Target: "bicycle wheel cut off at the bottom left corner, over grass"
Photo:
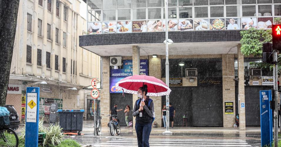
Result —
[[19, 138], [16, 132], [10, 128], [3, 128], [0, 130], [0, 146], [17, 147]]

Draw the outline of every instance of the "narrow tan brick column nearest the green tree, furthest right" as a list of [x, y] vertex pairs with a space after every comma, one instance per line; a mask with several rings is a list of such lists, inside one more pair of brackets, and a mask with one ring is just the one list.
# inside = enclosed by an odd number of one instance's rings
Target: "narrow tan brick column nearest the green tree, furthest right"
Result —
[[239, 103], [239, 129], [246, 130], [246, 121], [245, 121], [245, 107], [241, 108], [241, 103], [245, 105], [245, 88], [244, 88], [244, 56], [240, 50], [241, 44], [237, 46], [237, 56], [238, 56], [238, 99], [240, 99]]

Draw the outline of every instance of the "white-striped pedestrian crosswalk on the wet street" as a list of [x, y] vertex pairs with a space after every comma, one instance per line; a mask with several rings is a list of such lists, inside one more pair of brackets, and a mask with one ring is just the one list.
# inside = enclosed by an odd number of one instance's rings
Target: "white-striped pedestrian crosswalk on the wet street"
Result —
[[[99, 143], [94, 146], [112, 146], [115, 147], [134, 147], [138, 146], [138, 141], [136, 138], [121, 138], [111, 141], [106, 141], [106, 143]], [[239, 139], [227, 139], [227, 140], [210, 140], [210, 139], [150, 139], [149, 145], [151, 147], [159, 147], [159, 146], [186, 146], [186, 147], [247, 147], [248, 145], [246, 141]]]

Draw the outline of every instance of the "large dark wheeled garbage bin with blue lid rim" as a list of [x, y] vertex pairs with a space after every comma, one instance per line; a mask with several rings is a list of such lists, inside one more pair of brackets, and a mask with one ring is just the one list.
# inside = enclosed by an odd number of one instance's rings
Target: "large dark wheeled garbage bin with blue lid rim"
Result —
[[58, 110], [59, 125], [64, 132], [76, 132], [81, 135], [84, 110]]

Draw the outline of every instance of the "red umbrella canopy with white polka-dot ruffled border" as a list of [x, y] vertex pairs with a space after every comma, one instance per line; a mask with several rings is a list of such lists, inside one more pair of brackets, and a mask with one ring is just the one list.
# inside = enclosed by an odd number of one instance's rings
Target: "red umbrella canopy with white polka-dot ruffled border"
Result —
[[171, 89], [160, 79], [154, 76], [134, 75], [128, 76], [117, 82], [116, 89], [125, 93], [138, 94], [138, 88], [147, 85], [147, 96], [169, 95]]

